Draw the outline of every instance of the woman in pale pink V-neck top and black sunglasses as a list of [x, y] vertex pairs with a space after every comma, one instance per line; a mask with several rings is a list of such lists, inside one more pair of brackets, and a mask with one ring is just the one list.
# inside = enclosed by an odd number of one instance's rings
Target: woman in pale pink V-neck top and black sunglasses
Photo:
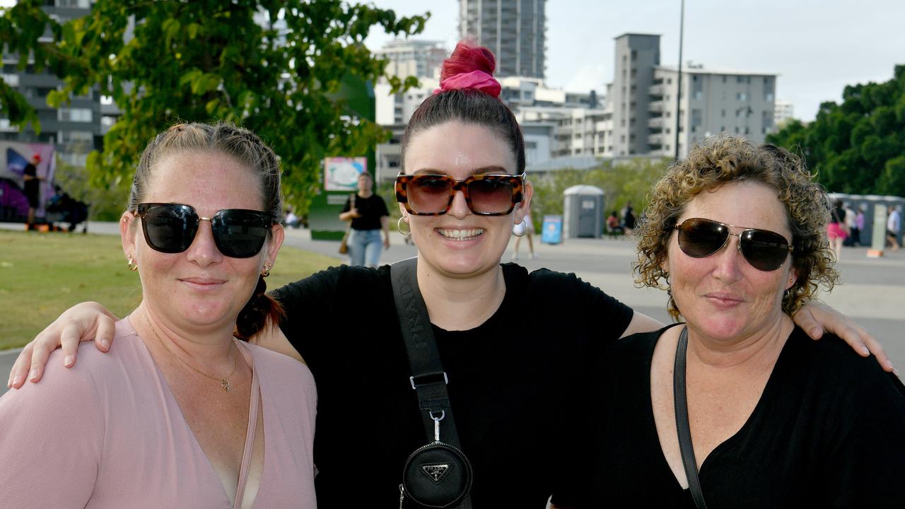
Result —
[[263, 278], [282, 209], [277, 158], [252, 132], [151, 140], [119, 222], [142, 302], [114, 351], [88, 346], [73, 376], [0, 399], [3, 506], [316, 506], [310, 371], [235, 337], [280, 319]]

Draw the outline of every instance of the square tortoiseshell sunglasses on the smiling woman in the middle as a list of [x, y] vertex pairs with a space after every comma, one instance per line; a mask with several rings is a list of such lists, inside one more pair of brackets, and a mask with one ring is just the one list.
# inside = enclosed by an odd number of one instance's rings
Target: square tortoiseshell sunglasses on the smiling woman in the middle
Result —
[[396, 201], [413, 216], [440, 216], [449, 212], [456, 191], [480, 216], [506, 216], [521, 201], [525, 174], [478, 173], [464, 180], [448, 175], [400, 173], [396, 177]]

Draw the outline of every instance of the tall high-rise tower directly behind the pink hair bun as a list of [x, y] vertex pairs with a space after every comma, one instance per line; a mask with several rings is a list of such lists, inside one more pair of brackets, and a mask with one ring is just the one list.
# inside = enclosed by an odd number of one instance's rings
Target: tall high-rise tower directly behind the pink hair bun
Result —
[[459, 0], [459, 36], [487, 46], [498, 76], [543, 78], [547, 0]]

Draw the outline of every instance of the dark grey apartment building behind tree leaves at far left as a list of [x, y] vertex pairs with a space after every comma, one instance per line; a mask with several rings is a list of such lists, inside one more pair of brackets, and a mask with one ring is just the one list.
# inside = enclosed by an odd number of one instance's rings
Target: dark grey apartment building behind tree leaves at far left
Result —
[[[48, 0], [44, 4], [47, 14], [60, 23], [89, 14], [91, 6], [90, 0]], [[46, 41], [51, 41], [49, 34]], [[2, 79], [22, 93], [37, 111], [41, 134], [30, 127], [19, 132], [8, 119], [0, 118], [0, 139], [52, 143], [64, 162], [84, 166], [88, 152], [100, 147], [103, 133], [109, 129], [109, 125], [103, 125], [104, 115], [118, 114], [115, 106], [101, 104], [100, 94], [90, 89], [84, 95], [71, 96], [70, 103], [63, 103], [60, 108], [52, 108], [47, 105], [47, 94], [61, 89], [62, 82], [49, 70], [36, 71], [31, 63], [20, 71], [18, 62], [18, 55], [3, 55]]]

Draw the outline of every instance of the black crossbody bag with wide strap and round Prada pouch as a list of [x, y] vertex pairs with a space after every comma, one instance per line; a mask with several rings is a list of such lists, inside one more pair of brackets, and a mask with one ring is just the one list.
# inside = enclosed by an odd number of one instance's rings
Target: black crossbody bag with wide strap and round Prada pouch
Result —
[[424, 507], [471, 509], [472, 464], [459, 446], [446, 391], [449, 377], [418, 290], [417, 261], [415, 257], [390, 265], [393, 300], [412, 373], [409, 382], [418, 396], [428, 440], [405, 460], [399, 507], [410, 499]]

